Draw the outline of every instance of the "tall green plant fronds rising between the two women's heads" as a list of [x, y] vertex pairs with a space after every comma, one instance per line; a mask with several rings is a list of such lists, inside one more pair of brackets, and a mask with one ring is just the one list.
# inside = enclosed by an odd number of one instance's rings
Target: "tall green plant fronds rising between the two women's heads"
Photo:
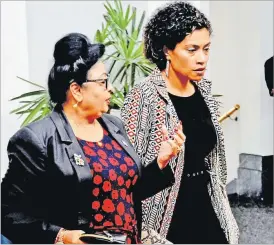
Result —
[[111, 107], [120, 108], [136, 80], [147, 76], [154, 65], [145, 58], [140, 40], [145, 11], [138, 21], [137, 9], [130, 5], [124, 9], [120, 0], [115, 0], [114, 5], [106, 1], [104, 6], [105, 22], [97, 30], [95, 42], [107, 47], [104, 60], [110, 61], [110, 79], [117, 91], [112, 96]]

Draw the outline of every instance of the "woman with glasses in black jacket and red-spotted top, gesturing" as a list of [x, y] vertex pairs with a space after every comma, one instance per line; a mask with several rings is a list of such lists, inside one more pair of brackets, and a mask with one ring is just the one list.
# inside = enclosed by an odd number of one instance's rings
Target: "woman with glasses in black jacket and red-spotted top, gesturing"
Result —
[[163, 127], [158, 156], [142, 167], [122, 121], [106, 114], [103, 54], [82, 34], [60, 39], [48, 78], [56, 107], [9, 141], [2, 234], [13, 243], [80, 244], [83, 233], [98, 232], [139, 243], [141, 200], [173, 183], [167, 163], [183, 143], [182, 126], [173, 135]]

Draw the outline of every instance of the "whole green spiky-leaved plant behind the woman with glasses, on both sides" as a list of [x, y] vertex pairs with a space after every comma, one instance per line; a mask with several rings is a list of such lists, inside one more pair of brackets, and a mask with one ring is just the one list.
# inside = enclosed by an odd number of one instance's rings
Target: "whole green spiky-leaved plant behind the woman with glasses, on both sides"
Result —
[[[116, 91], [111, 98], [111, 108], [120, 108], [124, 97], [134, 85], [136, 79], [146, 76], [153, 69], [153, 65], [143, 55], [143, 43], [139, 40], [140, 30], [145, 18], [145, 11], [137, 23], [137, 10], [130, 5], [123, 9], [120, 0], [113, 4], [108, 1], [104, 4], [106, 14], [101, 30], [97, 30], [95, 42], [104, 43], [107, 47], [103, 59], [110, 62], [110, 79]], [[37, 121], [49, 114], [54, 104], [49, 100], [45, 87], [28, 81], [39, 90], [23, 93], [12, 98], [11, 101], [19, 101], [18, 108], [10, 113], [26, 116], [21, 127]], [[118, 82], [119, 81], [119, 82]]]

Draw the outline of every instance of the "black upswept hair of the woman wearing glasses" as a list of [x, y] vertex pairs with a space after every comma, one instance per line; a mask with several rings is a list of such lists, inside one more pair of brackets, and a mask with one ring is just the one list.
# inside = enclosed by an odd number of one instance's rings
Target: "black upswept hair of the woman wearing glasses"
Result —
[[79, 85], [86, 81], [88, 70], [103, 56], [103, 44], [91, 44], [87, 36], [70, 33], [55, 44], [55, 63], [48, 77], [48, 89], [52, 102], [62, 104], [73, 80]]

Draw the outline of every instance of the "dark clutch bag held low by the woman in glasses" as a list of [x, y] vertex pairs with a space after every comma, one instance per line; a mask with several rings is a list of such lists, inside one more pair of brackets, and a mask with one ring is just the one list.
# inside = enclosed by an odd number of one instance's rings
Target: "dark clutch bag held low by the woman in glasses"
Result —
[[127, 235], [112, 233], [109, 231], [95, 232], [93, 234], [84, 233], [80, 236], [80, 240], [90, 244], [126, 244]]

